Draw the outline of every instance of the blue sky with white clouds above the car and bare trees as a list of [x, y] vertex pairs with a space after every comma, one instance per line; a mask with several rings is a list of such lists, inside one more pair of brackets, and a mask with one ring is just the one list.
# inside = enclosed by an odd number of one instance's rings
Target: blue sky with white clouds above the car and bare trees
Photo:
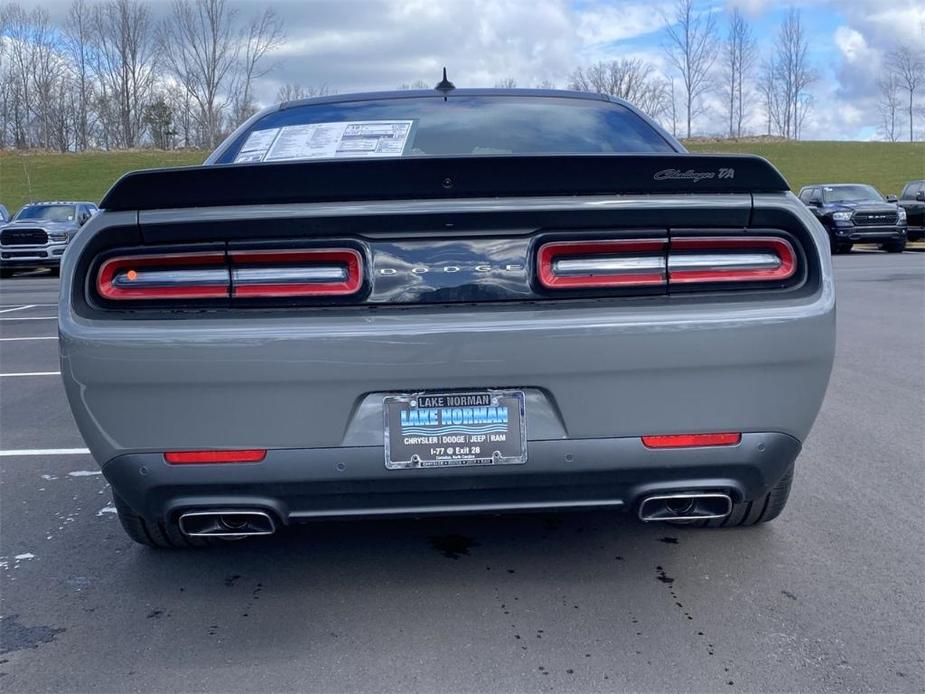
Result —
[[[264, 2], [230, 0], [242, 16]], [[24, 3], [28, 4], [28, 3]], [[57, 3], [54, 3], [57, 4]], [[62, 2], [61, 5], [65, 3]], [[169, 7], [155, 0], [158, 12]], [[664, 14], [673, 0], [269, 0], [284, 19], [286, 43], [263, 81], [271, 102], [283, 83], [326, 84], [345, 93], [436, 83], [446, 65], [459, 87], [565, 86], [575, 67], [621, 56], [642, 57], [668, 73]], [[878, 136], [878, 72], [897, 42], [925, 36], [925, 0], [701, 0], [725, 32], [738, 5], [762, 54], [791, 6], [801, 10], [820, 79], [805, 128], [811, 139]], [[761, 132], [757, 97], [750, 130]], [[703, 133], [722, 131], [718, 100], [700, 119]], [[925, 118], [921, 119], [925, 121]]]

